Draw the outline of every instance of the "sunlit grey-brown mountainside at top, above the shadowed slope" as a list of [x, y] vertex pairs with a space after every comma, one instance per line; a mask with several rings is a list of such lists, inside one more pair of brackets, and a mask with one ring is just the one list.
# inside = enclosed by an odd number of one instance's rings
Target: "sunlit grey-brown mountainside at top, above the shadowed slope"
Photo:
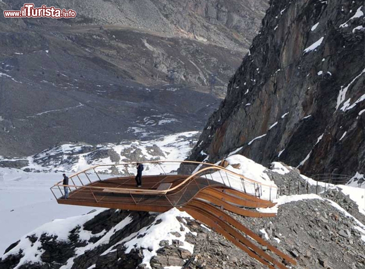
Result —
[[[18, 0], [4, 3], [7, 10], [24, 5]], [[34, 2], [35, 7], [43, 4]], [[20, 21], [28, 31], [51, 33], [107, 58], [129, 79], [143, 84], [207, 87], [214, 80], [223, 91], [259, 31], [268, 1], [62, 0], [54, 5], [75, 10], [77, 17]]]

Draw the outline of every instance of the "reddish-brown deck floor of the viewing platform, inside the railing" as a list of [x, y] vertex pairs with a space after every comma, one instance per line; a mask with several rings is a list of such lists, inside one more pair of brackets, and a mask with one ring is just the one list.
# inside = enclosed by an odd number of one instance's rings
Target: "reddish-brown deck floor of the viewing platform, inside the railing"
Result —
[[60, 197], [57, 202], [69, 205], [165, 212], [172, 207], [187, 204], [203, 188], [224, 186], [222, 183], [197, 177], [167, 194], [148, 193], [150, 190], [157, 190], [161, 184], [171, 183], [170, 188], [173, 188], [187, 177], [181, 175], [144, 176], [140, 188], [136, 187], [134, 178], [110, 178], [79, 187], [69, 193], [68, 199]]

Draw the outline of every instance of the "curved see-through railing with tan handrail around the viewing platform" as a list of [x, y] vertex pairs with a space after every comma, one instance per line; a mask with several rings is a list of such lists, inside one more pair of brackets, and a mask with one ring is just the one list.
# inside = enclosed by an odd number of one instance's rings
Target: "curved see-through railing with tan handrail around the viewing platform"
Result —
[[[136, 163], [97, 165], [71, 175], [69, 180], [72, 184], [63, 185], [62, 181], [57, 182], [51, 187], [51, 191], [54, 197], [58, 199], [55, 190], [59, 191], [61, 197], [63, 197], [63, 188], [67, 187], [70, 190], [70, 195], [74, 191], [79, 193], [88, 192], [95, 202], [100, 202], [105, 197], [105, 189], [107, 189], [107, 191], [111, 192], [128, 194], [136, 205], [141, 203], [151, 204], [151, 196], [159, 196], [160, 198], [163, 197], [172, 206], [179, 206], [188, 202], [187, 200], [191, 199], [200, 189], [212, 184], [229, 186], [246, 194], [270, 201], [278, 197], [276, 185], [255, 181], [213, 164], [192, 161], [152, 161], [140, 163], [144, 165], [144, 177], [148, 175], [181, 175], [185, 179], [180, 180], [180, 183], [167, 190], [157, 190], [159, 183], [163, 180], [149, 189], [125, 188], [123, 184], [120, 184], [118, 187], [99, 187], [93, 186], [93, 183], [103, 181], [104, 179], [111, 179], [111, 177], [120, 177], [120, 175], [129, 177], [134, 182], [133, 170], [136, 170]], [[198, 169], [197, 166], [199, 167]], [[186, 174], [187, 171], [193, 171], [193, 173]]]

